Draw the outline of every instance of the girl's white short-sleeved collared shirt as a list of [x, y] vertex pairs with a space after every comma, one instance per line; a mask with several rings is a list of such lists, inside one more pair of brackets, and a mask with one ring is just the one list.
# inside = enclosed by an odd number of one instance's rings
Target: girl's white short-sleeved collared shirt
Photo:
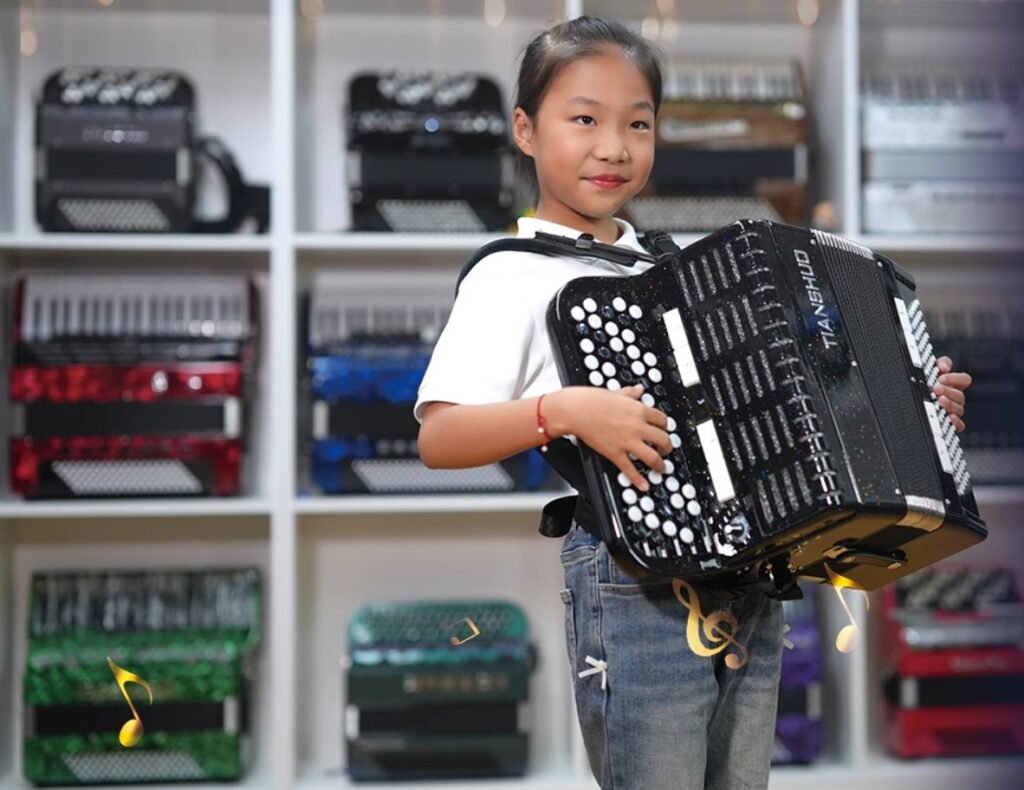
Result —
[[[615, 219], [616, 245], [642, 250], [636, 231]], [[538, 231], [573, 239], [582, 232], [537, 217], [519, 219], [519, 239]], [[548, 335], [548, 304], [569, 280], [629, 277], [652, 263], [623, 266], [597, 258], [502, 251], [478, 262], [462, 281], [444, 330], [420, 383], [414, 414], [427, 404], [479, 405], [535, 398], [562, 388]]]

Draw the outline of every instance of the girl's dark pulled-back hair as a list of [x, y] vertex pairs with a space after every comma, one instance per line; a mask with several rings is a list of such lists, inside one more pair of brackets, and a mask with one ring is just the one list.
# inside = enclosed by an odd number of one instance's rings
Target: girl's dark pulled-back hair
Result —
[[[587, 55], [618, 49], [636, 66], [650, 85], [654, 112], [662, 106], [662, 67], [657, 51], [642, 36], [621, 22], [597, 16], [578, 16], [537, 36], [522, 52], [514, 107], [530, 118], [537, 116], [551, 81], [564, 67]], [[514, 143], [513, 143], [514, 144]], [[529, 157], [515, 147], [516, 166], [536, 186], [537, 172]]]

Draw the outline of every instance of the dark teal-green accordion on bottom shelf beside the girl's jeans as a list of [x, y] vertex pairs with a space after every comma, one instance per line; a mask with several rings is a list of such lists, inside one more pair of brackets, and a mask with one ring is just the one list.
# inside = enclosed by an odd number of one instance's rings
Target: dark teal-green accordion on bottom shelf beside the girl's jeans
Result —
[[348, 624], [353, 780], [521, 776], [529, 674], [522, 610], [498, 600], [374, 604]]

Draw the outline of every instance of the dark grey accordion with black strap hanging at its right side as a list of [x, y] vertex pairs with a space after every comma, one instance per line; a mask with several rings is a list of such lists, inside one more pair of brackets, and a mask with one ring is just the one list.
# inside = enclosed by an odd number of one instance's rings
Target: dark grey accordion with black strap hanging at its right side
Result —
[[[227, 186], [222, 218], [194, 216], [199, 160]], [[249, 216], [265, 231], [269, 191], [243, 181], [215, 137], [196, 132], [196, 92], [181, 73], [61, 69], [36, 107], [36, 219], [44, 231], [229, 233]]]

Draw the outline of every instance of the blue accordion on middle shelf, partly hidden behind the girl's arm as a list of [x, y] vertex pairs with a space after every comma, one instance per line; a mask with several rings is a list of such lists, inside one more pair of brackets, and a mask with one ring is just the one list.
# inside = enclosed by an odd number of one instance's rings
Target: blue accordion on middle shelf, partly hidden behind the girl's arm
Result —
[[426, 494], [553, 489], [528, 452], [472, 469], [428, 469], [413, 416], [430, 352], [452, 308], [447, 276], [403, 273], [393, 285], [318, 273], [310, 286], [310, 477], [326, 494]]

